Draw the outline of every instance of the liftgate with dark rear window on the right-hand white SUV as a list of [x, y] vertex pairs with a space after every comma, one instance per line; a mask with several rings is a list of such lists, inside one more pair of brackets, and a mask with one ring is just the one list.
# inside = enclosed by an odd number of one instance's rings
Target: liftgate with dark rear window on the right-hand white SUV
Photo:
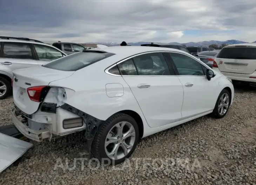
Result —
[[221, 72], [252, 74], [256, 71], [256, 47], [224, 47], [216, 57]]

